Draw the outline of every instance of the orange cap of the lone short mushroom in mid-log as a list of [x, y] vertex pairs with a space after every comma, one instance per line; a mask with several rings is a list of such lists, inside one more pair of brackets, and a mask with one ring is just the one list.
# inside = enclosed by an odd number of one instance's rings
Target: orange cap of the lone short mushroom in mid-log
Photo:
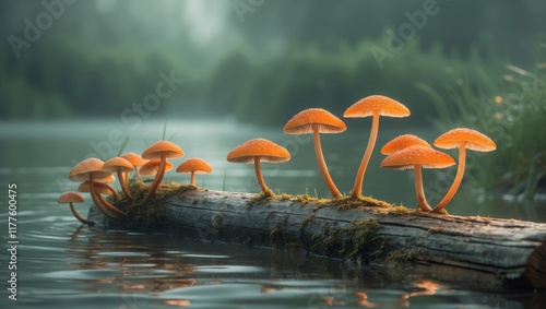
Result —
[[228, 162], [254, 163], [254, 157], [260, 157], [260, 162], [285, 162], [290, 159], [288, 151], [272, 141], [265, 139], [253, 139], [247, 141], [227, 154]]

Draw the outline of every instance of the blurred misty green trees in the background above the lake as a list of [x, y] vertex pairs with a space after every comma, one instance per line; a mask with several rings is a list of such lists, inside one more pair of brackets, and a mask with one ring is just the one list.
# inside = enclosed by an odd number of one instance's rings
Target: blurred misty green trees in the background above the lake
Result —
[[[388, 50], [407, 14], [432, 2], [438, 13], [379, 63], [373, 48]], [[0, 119], [119, 117], [174, 71], [186, 82], [156, 116], [281, 126], [302, 108], [341, 115], [381, 93], [424, 123], [438, 116], [430, 90], [448, 97], [449, 85], [500, 79], [505, 63], [537, 62], [544, 1], [432, 2], [2, 1]]]

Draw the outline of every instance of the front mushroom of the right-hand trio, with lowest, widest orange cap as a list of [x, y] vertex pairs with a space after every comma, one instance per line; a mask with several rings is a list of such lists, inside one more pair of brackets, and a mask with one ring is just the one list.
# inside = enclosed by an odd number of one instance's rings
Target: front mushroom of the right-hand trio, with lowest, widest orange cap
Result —
[[394, 152], [381, 162], [381, 167], [390, 169], [408, 169], [415, 171], [415, 194], [417, 205], [423, 211], [431, 211], [425, 199], [422, 168], [446, 168], [455, 164], [448, 154], [429, 146], [415, 145]]

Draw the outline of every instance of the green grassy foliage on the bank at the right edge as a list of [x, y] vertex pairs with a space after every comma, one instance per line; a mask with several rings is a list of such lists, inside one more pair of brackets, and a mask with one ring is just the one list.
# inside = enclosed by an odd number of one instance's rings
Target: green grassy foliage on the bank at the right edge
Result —
[[436, 102], [437, 126], [441, 131], [473, 128], [490, 136], [497, 151], [475, 154], [465, 178], [530, 198], [546, 185], [546, 66], [537, 64], [535, 72], [506, 68], [501, 80], [459, 80], [449, 87], [450, 99]]

